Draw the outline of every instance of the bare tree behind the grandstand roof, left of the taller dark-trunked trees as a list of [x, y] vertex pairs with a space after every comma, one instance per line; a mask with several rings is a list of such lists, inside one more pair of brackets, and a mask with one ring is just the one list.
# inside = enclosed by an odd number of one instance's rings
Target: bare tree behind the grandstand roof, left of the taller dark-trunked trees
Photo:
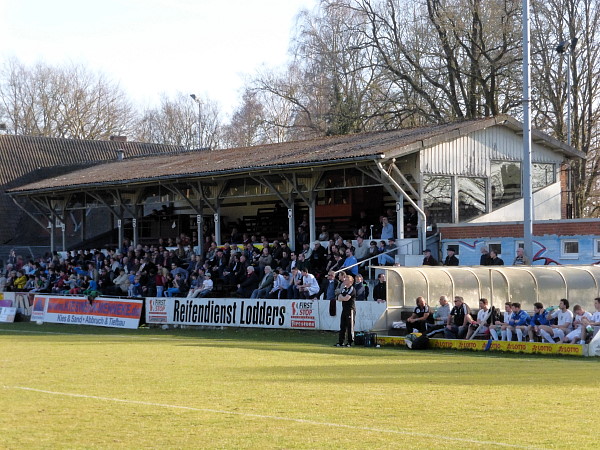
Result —
[[272, 130], [286, 130], [283, 134], [293, 139], [378, 126], [377, 102], [385, 87], [378, 84], [363, 26], [359, 13], [336, 0], [300, 13], [292, 62], [282, 73], [263, 72], [254, 82], [263, 104], [286, 108], [283, 115], [265, 117]]

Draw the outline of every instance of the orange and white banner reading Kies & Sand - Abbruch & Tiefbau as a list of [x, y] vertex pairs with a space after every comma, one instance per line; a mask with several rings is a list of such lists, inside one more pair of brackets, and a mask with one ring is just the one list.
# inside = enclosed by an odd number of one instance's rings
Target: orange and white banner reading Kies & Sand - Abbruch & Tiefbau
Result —
[[[36, 295], [32, 320], [110, 328], [137, 328], [143, 300]], [[42, 309], [42, 311], [40, 311]], [[34, 319], [35, 317], [35, 319]]]

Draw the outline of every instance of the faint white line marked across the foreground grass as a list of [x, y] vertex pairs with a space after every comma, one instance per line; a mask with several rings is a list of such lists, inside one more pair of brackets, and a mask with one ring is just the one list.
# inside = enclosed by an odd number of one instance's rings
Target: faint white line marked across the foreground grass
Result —
[[25, 386], [4, 386], [4, 389], [19, 389], [22, 391], [38, 392], [41, 394], [49, 394], [49, 395], [60, 395], [63, 397], [86, 398], [86, 399], [93, 399], [93, 400], [103, 400], [103, 401], [108, 401], [108, 402], [126, 403], [126, 404], [132, 404], [132, 405], [158, 406], [158, 407], [162, 407], [162, 408], [183, 409], [186, 411], [208, 412], [208, 413], [215, 413], [215, 414], [228, 414], [228, 415], [235, 415], [235, 416], [242, 416], [242, 417], [253, 417], [253, 418], [257, 418], [257, 419], [282, 420], [282, 421], [286, 421], [286, 422], [296, 422], [296, 423], [325, 426], [325, 427], [347, 428], [347, 429], [352, 429], [352, 430], [362, 430], [362, 431], [369, 431], [369, 432], [375, 432], [375, 433], [389, 433], [389, 434], [397, 434], [397, 435], [403, 435], [403, 436], [423, 437], [423, 438], [428, 438], [428, 439], [437, 439], [440, 441], [455, 441], [455, 442], [464, 442], [464, 443], [468, 443], [468, 444], [479, 444], [479, 445], [496, 445], [499, 447], [510, 447], [510, 448], [525, 448], [525, 449], [539, 448], [539, 447], [527, 447], [524, 445], [506, 444], [503, 442], [478, 441], [476, 439], [464, 439], [464, 438], [457, 438], [457, 437], [452, 437], [452, 436], [443, 436], [443, 435], [436, 435], [436, 434], [415, 433], [412, 431], [388, 430], [385, 428], [358, 427], [358, 426], [354, 426], [354, 425], [346, 425], [346, 424], [342, 424], [342, 423], [333, 423], [333, 422], [318, 422], [316, 420], [295, 419], [293, 417], [268, 416], [268, 415], [264, 415], [264, 414], [225, 411], [225, 410], [220, 410], [220, 409], [209, 409], [209, 408], [194, 408], [192, 406], [169, 405], [166, 403], [144, 402], [144, 401], [140, 401], [140, 400], [126, 400], [126, 399], [122, 399], [122, 398], [98, 397], [96, 395], [74, 394], [71, 392], [46, 391], [43, 389], [35, 389], [35, 388], [30, 388], [30, 387], [25, 387]]

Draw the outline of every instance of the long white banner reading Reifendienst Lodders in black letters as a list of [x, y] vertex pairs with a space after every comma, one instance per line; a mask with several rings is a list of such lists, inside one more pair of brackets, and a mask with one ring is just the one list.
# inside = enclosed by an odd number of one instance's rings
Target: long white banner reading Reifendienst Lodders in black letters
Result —
[[[357, 302], [356, 327], [370, 330], [385, 304]], [[341, 305], [329, 315], [329, 301], [213, 298], [147, 298], [146, 322], [259, 328], [339, 330]]]

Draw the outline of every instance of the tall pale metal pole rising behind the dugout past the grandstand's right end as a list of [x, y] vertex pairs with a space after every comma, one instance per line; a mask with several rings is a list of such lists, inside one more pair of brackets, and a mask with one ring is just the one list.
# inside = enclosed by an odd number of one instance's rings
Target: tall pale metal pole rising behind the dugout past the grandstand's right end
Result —
[[529, 53], [529, 0], [523, 0], [523, 241], [525, 254], [533, 259], [533, 197], [531, 195], [531, 103]]

